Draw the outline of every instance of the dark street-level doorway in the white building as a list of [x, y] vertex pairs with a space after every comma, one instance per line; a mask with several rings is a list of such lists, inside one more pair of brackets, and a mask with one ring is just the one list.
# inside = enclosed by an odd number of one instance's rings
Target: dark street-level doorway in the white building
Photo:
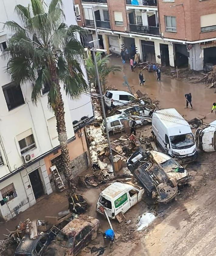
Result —
[[35, 196], [35, 199], [38, 199], [42, 195], [44, 195], [43, 184], [41, 182], [41, 178], [39, 175], [38, 169], [29, 173], [29, 179], [31, 182], [32, 190]]

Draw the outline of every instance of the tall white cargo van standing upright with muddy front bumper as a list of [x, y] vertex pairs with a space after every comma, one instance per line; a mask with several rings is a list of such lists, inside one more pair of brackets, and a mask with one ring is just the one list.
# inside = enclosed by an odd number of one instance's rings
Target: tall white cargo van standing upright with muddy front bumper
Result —
[[190, 163], [197, 158], [197, 146], [190, 125], [176, 109], [154, 112], [152, 132], [161, 148], [181, 163]]

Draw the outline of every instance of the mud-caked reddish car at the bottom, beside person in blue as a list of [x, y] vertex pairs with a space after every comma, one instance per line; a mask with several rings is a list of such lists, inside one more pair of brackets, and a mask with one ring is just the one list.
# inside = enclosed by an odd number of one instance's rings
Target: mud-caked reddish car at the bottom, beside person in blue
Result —
[[70, 221], [59, 232], [46, 250], [45, 256], [76, 256], [97, 237], [100, 221], [91, 216], [81, 214], [77, 219]]

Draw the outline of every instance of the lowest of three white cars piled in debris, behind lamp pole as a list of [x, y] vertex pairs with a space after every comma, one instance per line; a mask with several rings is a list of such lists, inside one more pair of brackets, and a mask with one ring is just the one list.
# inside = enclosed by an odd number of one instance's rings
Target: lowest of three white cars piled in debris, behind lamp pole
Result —
[[[106, 120], [107, 120], [108, 132], [115, 133], [115, 132], [124, 131], [124, 129], [125, 129], [124, 124], [123, 124], [124, 120], [128, 120], [129, 125], [130, 125], [129, 119], [127, 117], [123, 117], [122, 114], [107, 117]], [[139, 117], [135, 120], [136, 125], [143, 125], [145, 122], [147, 122], [147, 121], [139, 119]], [[104, 134], [106, 134], [104, 120], [101, 124], [101, 130]]]

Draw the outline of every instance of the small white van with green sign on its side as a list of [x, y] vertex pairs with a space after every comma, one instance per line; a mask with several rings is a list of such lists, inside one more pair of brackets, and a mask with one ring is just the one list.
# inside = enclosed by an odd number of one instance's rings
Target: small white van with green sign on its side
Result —
[[105, 188], [98, 199], [96, 211], [104, 214], [104, 209], [111, 219], [122, 212], [127, 212], [133, 205], [142, 200], [144, 188], [130, 182], [114, 182]]

